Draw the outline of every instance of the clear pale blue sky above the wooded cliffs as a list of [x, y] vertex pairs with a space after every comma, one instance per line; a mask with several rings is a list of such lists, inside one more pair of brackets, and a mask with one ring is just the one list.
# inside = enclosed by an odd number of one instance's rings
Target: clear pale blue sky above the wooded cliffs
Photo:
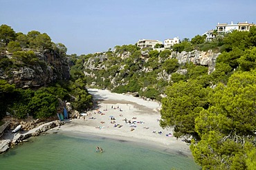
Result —
[[256, 23], [255, 7], [255, 0], [0, 0], [0, 25], [45, 32], [80, 55], [138, 39], [192, 39], [217, 23]]

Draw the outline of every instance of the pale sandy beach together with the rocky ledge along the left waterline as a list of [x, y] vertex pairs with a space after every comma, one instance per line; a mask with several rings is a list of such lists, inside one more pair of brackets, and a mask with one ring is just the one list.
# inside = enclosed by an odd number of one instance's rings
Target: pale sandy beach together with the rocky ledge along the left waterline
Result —
[[[137, 98], [130, 94], [115, 94], [108, 90], [88, 90], [97, 105], [94, 110], [84, 113], [86, 116], [63, 122], [57, 120], [45, 123], [24, 134], [6, 134], [7, 137], [1, 140], [1, 146], [6, 147], [3, 150], [6, 151], [10, 148], [8, 147], [9, 143], [17, 145], [18, 142], [22, 142], [30, 136], [38, 136], [44, 132], [46, 134], [60, 133], [73, 137], [93, 136], [134, 142], [134, 144], [147, 145], [160, 151], [193, 158], [187, 143], [168, 135], [172, 134], [171, 128], [162, 129], [160, 127], [161, 103]], [[115, 120], [111, 120], [112, 118]], [[160, 131], [161, 134], [158, 134]]]

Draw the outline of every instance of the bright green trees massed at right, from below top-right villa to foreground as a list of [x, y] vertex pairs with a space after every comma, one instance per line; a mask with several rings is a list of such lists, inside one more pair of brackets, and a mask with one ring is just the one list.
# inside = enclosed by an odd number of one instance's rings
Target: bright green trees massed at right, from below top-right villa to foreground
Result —
[[255, 33], [226, 34], [216, 70], [204, 82], [190, 74], [165, 91], [161, 126], [174, 127], [176, 138], [192, 139], [192, 154], [203, 169], [256, 168]]

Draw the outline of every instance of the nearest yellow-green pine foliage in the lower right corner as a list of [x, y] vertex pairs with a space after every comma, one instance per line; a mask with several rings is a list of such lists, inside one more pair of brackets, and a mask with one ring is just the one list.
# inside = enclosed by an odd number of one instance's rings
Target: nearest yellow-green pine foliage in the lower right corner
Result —
[[210, 107], [195, 119], [201, 140], [191, 149], [203, 169], [255, 168], [256, 72], [233, 74], [209, 96]]

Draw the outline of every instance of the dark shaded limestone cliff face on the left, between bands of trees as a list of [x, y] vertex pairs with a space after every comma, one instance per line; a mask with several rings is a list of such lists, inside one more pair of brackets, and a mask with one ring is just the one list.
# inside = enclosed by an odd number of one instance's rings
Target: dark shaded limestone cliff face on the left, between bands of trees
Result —
[[[34, 53], [39, 61], [33, 64], [22, 63], [19, 67], [9, 67], [8, 70], [0, 68], [0, 78], [21, 88], [42, 87], [56, 81], [68, 80], [70, 67], [66, 57], [49, 50]], [[12, 54], [7, 57], [12, 59]], [[12, 62], [19, 63], [15, 60]]]

